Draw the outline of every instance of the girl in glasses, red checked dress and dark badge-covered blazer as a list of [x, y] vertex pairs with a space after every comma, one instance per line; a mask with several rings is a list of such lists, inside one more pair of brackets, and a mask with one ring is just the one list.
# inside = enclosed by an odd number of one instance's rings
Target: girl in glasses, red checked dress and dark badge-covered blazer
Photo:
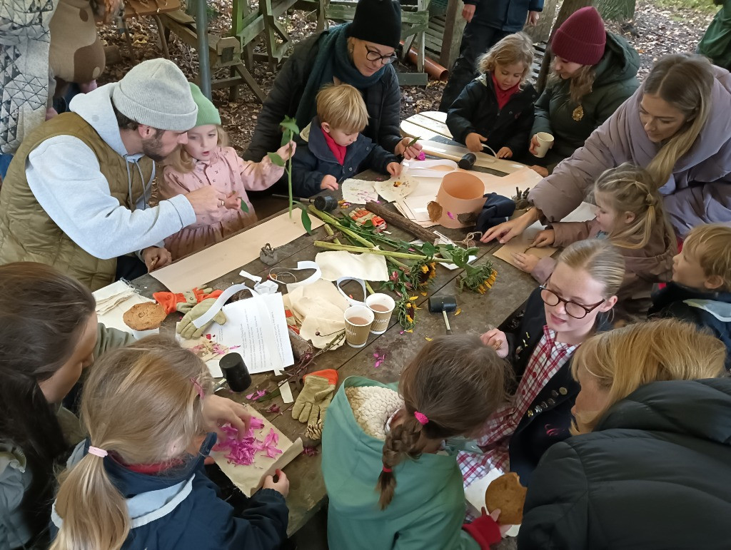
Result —
[[529, 297], [520, 327], [509, 334], [492, 329], [482, 335], [512, 364], [515, 391], [485, 424], [477, 440], [482, 452], [458, 455], [465, 486], [493, 468], [518, 473], [527, 486], [546, 449], [569, 437], [571, 408], [579, 393], [571, 358], [588, 337], [610, 329], [623, 278], [624, 258], [613, 245], [599, 239], [575, 242]]

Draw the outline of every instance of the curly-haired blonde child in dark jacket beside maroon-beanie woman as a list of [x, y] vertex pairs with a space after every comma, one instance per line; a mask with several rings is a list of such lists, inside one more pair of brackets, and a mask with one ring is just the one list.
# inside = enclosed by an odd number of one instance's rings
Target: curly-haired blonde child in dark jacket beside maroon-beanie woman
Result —
[[518, 32], [501, 39], [477, 60], [480, 77], [466, 85], [447, 112], [447, 126], [473, 152], [482, 144], [498, 158], [526, 153], [538, 93], [528, 82], [533, 43]]

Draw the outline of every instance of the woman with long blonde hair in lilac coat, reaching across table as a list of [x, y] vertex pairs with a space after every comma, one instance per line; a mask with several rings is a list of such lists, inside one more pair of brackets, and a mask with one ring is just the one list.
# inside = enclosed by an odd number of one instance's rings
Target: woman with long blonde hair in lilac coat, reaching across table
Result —
[[507, 242], [538, 220], [561, 221], [605, 169], [632, 162], [648, 169], [675, 234], [731, 221], [731, 75], [688, 53], [661, 58], [643, 86], [531, 189], [533, 207], [493, 227], [483, 242]]

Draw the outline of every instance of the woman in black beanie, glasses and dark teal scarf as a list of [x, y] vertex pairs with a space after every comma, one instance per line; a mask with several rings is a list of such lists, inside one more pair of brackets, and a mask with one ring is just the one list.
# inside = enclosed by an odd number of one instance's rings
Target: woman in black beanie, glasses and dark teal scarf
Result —
[[362, 132], [390, 153], [413, 158], [420, 145], [401, 138], [401, 91], [393, 61], [401, 40], [401, 6], [393, 0], [360, 0], [352, 23], [331, 27], [295, 47], [257, 119], [245, 160], [260, 161], [281, 146], [284, 116], [304, 129], [317, 114], [315, 96], [326, 84], [349, 84], [363, 94], [368, 126]]

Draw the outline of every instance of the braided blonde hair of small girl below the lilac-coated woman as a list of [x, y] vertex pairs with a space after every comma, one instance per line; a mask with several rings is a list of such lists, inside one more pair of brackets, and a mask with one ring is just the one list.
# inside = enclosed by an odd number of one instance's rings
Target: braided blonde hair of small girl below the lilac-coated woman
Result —
[[662, 206], [654, 178], [646, 170], [625, 162], [602, 173], [594, 183], [592, 195], [601, 193], [618, 214], [626, 212], [635, 215], [635, 221], [614, 229], [609, 238], [613, 245], [621, 248], [645, 248], [658, 225], [662, 225], [668, 243], [675, 242], [673, 226], [670, 225]]

